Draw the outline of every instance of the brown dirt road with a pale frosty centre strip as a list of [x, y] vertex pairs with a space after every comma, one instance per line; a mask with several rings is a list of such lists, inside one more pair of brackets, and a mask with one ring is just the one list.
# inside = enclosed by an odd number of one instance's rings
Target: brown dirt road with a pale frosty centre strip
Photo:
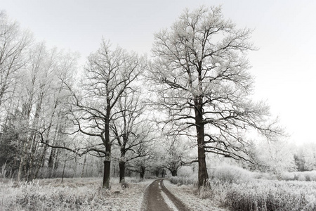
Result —
[[183, 203], [164, 186], [164, 179], [157, 179], [148, 186], [142, 210], [146, 211], [188, 211]]

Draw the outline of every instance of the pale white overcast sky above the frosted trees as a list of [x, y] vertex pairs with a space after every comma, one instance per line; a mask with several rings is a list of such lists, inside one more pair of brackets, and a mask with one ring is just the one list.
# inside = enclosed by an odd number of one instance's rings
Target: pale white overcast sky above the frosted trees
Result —
[[296, 143], [314, 142], [316, 1], [291, 0], [0, 0], [0, 10], [48, 46], [81, 54], [84, 63], [102, 37], [112, 44], [150, 54], [153, 34], [170, 27], [184, 8], [223, 6], [225, 18], [254, 28], [249, 53], [256, 99], [270, 104]]

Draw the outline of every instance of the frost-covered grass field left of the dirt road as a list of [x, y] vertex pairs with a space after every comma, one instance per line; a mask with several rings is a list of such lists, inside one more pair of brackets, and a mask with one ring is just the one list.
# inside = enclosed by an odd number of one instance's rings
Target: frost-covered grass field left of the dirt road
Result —
[[145, 188], [152, 180], [126, 179], [121, 188], [111, 179], [111, 189], [101, 188], [102, 179], [38, 179], [32, 183], [0, 180], [0, 210], [140, 210]]

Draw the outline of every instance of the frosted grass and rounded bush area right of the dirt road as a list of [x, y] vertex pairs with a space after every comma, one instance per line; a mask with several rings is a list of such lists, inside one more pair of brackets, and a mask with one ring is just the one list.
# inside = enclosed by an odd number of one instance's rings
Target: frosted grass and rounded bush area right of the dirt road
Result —
[[192, 209], [197, 206], [197, 210], [206, 205], [228, 210], [316, 210], [316, 181], [277, 181], [255, 176], [238, 167], [223, 166], [211, 172], [206, 188], [198, 190], [196, 181], [179, 177], [171, 178], [168, 188], [183, 203], [192, 204]]

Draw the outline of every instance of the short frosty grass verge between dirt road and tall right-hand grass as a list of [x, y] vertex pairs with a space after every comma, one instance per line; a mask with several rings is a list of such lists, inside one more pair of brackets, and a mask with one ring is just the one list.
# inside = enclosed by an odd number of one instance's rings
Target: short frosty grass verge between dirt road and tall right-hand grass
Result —
[[197, 188], [192, 184], [177, 186], [171, 184], [169, 180], [164, 180], [164, 186], [179, 200], [181, 200], [186, 207], [190, 210], [213, 210], [213, 211], [223, 211], [224, 209], [218, 208], [216, 203], [210, 198], [202, 199], [198, 195]]

